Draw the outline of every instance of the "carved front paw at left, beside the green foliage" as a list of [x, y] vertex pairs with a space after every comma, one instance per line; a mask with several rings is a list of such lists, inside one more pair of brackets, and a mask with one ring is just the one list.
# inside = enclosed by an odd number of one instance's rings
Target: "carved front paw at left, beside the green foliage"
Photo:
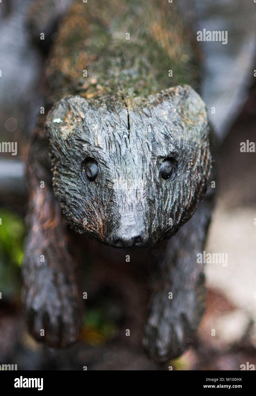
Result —
[[37, 269], [29, 283], [25, 282], [23, 287], [23, 303], [30, 333], [37, 341], [54, 348], [74, 343], [81, 322], [74, 285], [62, 274], [53, 276], [47, 265]]

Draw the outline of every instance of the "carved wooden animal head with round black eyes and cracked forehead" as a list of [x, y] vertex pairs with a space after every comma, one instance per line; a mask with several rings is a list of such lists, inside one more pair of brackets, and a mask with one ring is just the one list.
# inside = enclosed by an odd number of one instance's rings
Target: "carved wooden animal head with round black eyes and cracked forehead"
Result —
[[190, 86], [145, 98], [65, 97], [47, 115], [53, 188], [76, 231], [114, 247], [170, 238], [209, 181], [205, 105]]

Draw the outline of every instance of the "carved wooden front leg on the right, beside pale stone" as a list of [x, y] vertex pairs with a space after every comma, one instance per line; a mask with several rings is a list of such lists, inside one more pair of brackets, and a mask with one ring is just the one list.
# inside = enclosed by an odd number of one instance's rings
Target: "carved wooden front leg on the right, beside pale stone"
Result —
[[[201, 321], [205, 286], [203, 265], [197, 263], [197, 254], [205, 244], [211, 206], [211, 197], [206, 197], [178, 233], [159, 244], [160, 249], [161, 245], [165, 249], [152, 256], [152, 298], [144, 346], [155, 361], [180, 356]], [[157, 248], [156, 245], [154, 249]]]

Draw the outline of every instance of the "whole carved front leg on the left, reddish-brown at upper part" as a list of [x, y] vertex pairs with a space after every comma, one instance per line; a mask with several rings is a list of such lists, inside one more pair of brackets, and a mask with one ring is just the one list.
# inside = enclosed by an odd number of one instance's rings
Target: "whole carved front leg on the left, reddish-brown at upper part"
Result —
[[83, 299], [66, 221], [51, 188], [45, 143], [36, 137], [27, 169], [29, 232], [22, 300], [32, 335], [59, 348], [79, 337]]

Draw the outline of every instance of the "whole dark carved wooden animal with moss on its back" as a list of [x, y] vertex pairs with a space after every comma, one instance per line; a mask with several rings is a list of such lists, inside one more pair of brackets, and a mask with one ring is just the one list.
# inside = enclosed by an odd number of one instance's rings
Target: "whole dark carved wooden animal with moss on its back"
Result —
[[99, 242], [106, 245], [106, 255], [125, 252], [127, 266], [149, 252], [140, 341], [152, 359], [165, 361], [186, 350], [204, 311], [197, 253], [210, 221], [213, 160], [207, 112], [196, 93], [197, 49], [168, 2], [38, 1], [30, 10], [32, 35], [46, 31], [50, 41], [59, 17], [45, 67], [45, 114], [38, 116], [27, 164], [28, 325], [38, 340], [44, 329], [49, 346], [79, 338], [75, 231], [85, 262], [89, 239], [99, 249]]

